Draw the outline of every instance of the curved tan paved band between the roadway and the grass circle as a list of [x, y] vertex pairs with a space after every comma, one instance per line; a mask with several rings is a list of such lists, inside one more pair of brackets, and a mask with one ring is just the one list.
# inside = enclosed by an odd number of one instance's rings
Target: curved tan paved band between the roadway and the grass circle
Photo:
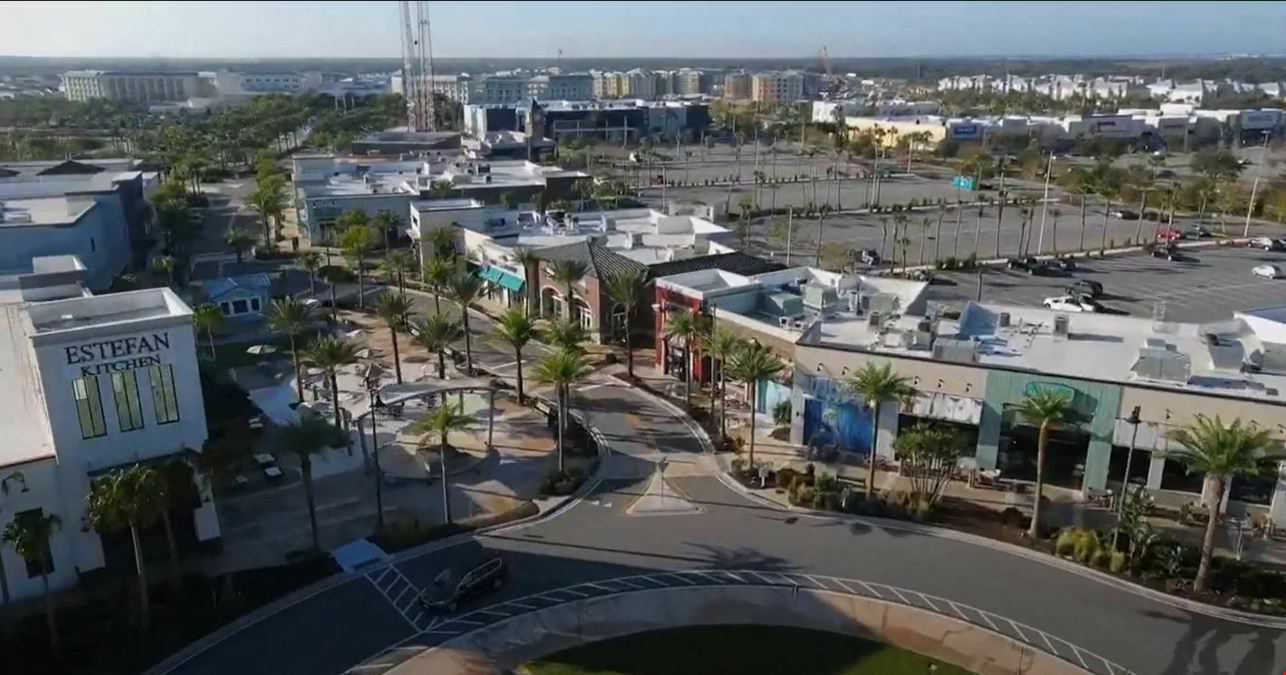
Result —
[[559, 604], [453, 638], [405, 661], [392, 675], [451, 675], [462, 657], [487, 654], [514, 669], [581, 644], [697, 625], [781, 625], [876, 640], [979, 675], [1071, 675], [1080, 667], [998, 633], [944, 615], [833, 591], [786, 586], [673, 588]]

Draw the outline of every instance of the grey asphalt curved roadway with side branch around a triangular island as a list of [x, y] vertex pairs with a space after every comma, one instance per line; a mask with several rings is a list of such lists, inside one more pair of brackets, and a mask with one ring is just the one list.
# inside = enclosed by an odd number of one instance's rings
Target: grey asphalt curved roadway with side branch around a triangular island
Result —
[[[918, 591], [1033, 626], [1139, 674], [1268, 674], [1286, 663], [1286, 633], [1217, 618], [1003, 549], [868, 521], [799, 517], [720, 482], [687, 418], [607, 379], [579, 408], [617, 454], [584, 500], [531, 525], [460, 537], [328, 586], [233, 633], [165, 672], [282, 675], [382, 672], [460, 630], [568, 600], [584, 582], [683, 570], [748, 570], [784, 579], [856, 579]], [[691, 516], [629, 517], [652, 462], [702, 507]], [[422, 615], [417, 588], [478, 544], [504, 552], [509, 582], [453, 621]], [[782, 579], [782, 577], [778, 577]], [[562, 595], [558, 595], [562, 593]], [[463, 627], [462, 627], [463, 626]], [[1276, 669], [1276, 670], [1274, 670]]]

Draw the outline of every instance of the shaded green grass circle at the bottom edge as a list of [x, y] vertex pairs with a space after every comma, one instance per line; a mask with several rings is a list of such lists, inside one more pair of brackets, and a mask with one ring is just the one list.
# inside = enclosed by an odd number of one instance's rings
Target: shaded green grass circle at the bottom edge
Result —
[[[935, 670], [930, 670], [936, 666]], [[781, 626], [665, 629], [527, 663], [530, 675], [968, 675], [886, 644]]]

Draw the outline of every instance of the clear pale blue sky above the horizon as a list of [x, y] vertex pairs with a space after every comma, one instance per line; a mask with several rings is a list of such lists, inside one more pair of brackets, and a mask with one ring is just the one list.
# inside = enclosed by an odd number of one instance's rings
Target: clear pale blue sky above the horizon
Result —
[[[441, 57], [1286, 51], [1286, 3], [430, 3]], [[0, 54], [396, 57], [396, 3], [0, 3]]]

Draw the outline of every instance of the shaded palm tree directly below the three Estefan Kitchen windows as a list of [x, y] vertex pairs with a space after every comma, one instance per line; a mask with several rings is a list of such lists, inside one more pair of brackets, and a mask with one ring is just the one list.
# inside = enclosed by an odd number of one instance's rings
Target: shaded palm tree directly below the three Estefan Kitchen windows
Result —
[[148, 571], [143, 561], [143, 539], [139, 532], [150, 526], [165, 508], [161, 474], [152, 467], [134, 464], [113, 471], [90, 483], [87, 516], [102, 531], [130, 528], [134, 543], [134, 567], [139, 577], [139, 618], [143, 633], [150, 630]]

